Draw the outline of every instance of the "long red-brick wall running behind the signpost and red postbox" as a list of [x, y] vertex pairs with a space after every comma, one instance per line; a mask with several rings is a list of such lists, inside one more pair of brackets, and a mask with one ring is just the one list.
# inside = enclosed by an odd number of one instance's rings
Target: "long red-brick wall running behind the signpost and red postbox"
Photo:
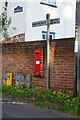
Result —
[[[41, 49], [41, 75], [34, 73], [34, 51]], [[7, 43], [2, 46], [3, 73], [32, 74], [32, 86], [46, 88], [46, 41]], [[50, 88], [73, 92], [74, 39], [50, 41]]]

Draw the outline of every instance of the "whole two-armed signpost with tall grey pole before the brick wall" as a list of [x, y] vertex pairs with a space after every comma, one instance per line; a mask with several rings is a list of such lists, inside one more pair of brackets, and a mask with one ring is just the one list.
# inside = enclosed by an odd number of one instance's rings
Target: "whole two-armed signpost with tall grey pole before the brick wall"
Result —
[[50, 24], [59, 24], [60, 18], [51, 19], [50, 20], [50, 14], [46, 14], [46, 20], [43, 21], [37, 21], [32, 23], [32, 27], [39, 27], [47, 25], [47, 87], [46, 89], [49, 89], [49, 33], [50, 33]]

